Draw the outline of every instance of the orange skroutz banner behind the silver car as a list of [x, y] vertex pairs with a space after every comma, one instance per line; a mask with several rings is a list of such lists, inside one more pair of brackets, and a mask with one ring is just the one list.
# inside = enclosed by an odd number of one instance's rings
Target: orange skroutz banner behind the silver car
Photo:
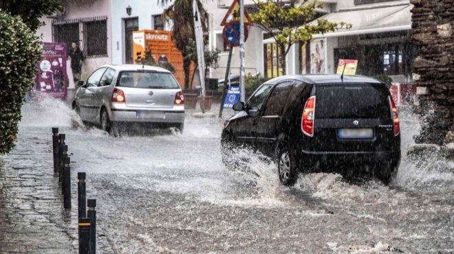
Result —
[[[156, 63], [170, 62], [175, 68], [173, 76], [180, 86], [184, 86], [183, 56], [172, 41], [172, 32], [161, 30], [140, 30], [133, 32], [133, 58], [134, 64], [140, 64], [138, 56], [144, 58], [145, 51], [151, 51]], [[194, 67], [189, 71], [192, 76]], [[191, 80], [191, 76], [189, 80]]]

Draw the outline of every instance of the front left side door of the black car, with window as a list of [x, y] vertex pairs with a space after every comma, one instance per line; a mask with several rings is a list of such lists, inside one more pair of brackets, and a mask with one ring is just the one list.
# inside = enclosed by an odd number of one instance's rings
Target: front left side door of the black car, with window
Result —
[[235, 139], [246, 146], [255, 147], [255, 125], [259, 118], [259, 113], [265, 102], [268, 93], [272, 89], [272, 84], [263, 84], [255, 91], [246, 104], [246, 110], [241, 112], [242, 116], [237, 119], [234, 129]]

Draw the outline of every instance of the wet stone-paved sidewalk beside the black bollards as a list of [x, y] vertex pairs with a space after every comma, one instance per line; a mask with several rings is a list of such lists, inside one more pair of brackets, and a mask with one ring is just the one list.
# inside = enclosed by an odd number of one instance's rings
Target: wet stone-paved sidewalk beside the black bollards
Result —
[[[16, 149], [0, 155], [0, 253], [78, 253], [77, 172], [65, 210], [51, 140], [51, 130], [49, 140], [19, 134]], [[96, 252], [113, 253], [97, 224]]]

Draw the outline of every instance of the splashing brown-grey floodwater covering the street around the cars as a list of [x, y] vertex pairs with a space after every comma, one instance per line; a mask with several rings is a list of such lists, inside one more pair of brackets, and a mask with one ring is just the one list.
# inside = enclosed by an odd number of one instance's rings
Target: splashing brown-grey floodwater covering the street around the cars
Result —
[[182, 135], [117, 138], [72, 128], [74, 112], [43, 99], [23, 106], [19, 135], [66, 133], [72, 181], [87, 172], [87, 198], [116, 253], [454, 253], [454, 167], [407, 159], [418, 119], [400, 117], [403, 158], [389, 187], [323, 173], [283, 187], [276, 165], [247, 150], [238, 154], [249, 170], [227, 170], [222, 121], [191, 112]]

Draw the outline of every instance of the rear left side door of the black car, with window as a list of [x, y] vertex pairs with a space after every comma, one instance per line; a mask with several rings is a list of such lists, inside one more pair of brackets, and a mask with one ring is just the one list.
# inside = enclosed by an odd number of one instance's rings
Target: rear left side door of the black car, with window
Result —
[[[274, 155], [274, 148], [281, 132], [282, 113], [293, 85], [292, 80], [277, 84], [263, 106], [263, 112], [257, 119], [257, 148], [268, 157]], [[292, 102], [290, 102], [292, 103]]]

